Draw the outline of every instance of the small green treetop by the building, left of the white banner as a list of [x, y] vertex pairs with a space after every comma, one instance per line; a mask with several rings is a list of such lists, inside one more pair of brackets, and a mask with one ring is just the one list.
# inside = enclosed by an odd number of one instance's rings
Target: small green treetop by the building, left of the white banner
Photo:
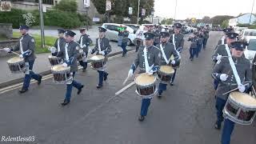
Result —
[[75, 0], [62, 0], [55, 6], [57, 10], [77, 12], [78, 3]]

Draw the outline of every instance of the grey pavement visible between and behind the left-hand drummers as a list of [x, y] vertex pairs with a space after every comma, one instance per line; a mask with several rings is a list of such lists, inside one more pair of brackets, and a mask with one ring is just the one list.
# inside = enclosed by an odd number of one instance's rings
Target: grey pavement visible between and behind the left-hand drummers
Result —
[[[110, 42], [110, 45], [112, 46], [112, 52], [110, 53], [111, 55], [115, 54], [121, 54], [122, 49], [121, 47], [118, 47], [117, 42]], [[91, 49], [93, 47], [90, 47]], [[134, 50], [134, 46], [127, 46], [127, 50]], [[50, 62], [48, 60], [49, 54], [37, 54], [37, 58], [34, 62], [34, 72], [39, 73], [42, 75], [45, 74], [50, 74]], [[89, 55], [90, 57], [90, 55]], [[5, 86], [10, 86], [18, 82], [22, 82], [22, 78], [24, 77], [24, 74], [12, 74], [10, 72], [9, 66], [7, 65], [7, 60], [12, 57], [6, 57], [6, 58], [0, 58], [0, 88], [5, 87]]]

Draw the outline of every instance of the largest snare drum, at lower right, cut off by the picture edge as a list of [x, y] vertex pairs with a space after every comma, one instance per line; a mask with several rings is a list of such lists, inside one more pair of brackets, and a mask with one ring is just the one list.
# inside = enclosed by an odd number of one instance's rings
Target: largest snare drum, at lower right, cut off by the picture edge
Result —
[[254, 121], [256, 112], [256, 99], [249, 94], [232, 92], [223, 109], [224, 118], [241, 124], [250, 125]]

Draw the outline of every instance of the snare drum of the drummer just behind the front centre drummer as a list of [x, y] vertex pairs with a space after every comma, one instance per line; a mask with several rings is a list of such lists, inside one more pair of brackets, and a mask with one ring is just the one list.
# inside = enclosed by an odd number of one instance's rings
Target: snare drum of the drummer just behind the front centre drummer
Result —
[[172, 66], [160, 66], [157, 78], [161, 83], [169, 84], [173, 74], [174, 68]]

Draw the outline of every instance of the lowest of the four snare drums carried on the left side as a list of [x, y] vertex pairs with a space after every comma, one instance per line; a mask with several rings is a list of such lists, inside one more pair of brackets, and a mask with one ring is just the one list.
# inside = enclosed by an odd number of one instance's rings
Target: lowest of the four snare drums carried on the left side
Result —
[[70, 66], [56, 65], [51, 68], [51, 72], [54, 74], [53, 81], [56, 84], [71, 84], [73, 81], [73, 77], [70, 74]]

